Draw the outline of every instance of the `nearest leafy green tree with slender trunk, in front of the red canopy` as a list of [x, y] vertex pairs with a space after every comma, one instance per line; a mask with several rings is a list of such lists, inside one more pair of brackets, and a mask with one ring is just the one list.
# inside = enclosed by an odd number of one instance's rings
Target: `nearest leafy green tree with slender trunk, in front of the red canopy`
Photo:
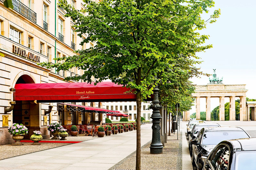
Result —
[[[71, 17], [78, 36], [86, 34], [81, 42], [97, 42], [94, 48], [77, 50], [80, 55], [66, 56], [56, 60], [63, 63], [43, 63], [57, 71], [72, 67], [84, 70], [83, 75], [67, 77], [66, 80], [97, 82], [111, 80], [135, 89], [137, 103], [136, 170], [140, 169], [140, 113], [141, 101], [151, 95], [156, 84], [168, 83], [183, 56], [197, 58], [196, 52], [211, 48], [201, 46], [207, 35], [200, 35], [206, 21], [200, 15], [212, 7], [212, 0], [102, 0], [95, 3], [85, 0], [85, 10], [78, 11], [66, 0], [59, 6]], [[84, 16], [83, 13], [88, 13]], [[220, 11], [211, 15], [215, 22]], [[193, 64], [193, 63], [192, 63]], [[179, 68], [177, 68], [179, 69]], [[189, 71], [189, 70], [188, 70]], [[193, 70], [191, 70], [193, 71]], [[161, 74], [156, 78], [156, 75]]]

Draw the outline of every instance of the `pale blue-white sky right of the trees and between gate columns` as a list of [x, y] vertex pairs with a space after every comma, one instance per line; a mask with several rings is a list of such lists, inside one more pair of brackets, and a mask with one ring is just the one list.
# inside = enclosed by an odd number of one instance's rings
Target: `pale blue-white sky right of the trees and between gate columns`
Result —
[[[217, 22], [207, 24], [200, 34], [210, 35], [205, 44], [213, 48], [197, 53], [203, 63], [201, 71], [223, 77], [223, 84], [246, 84], [246, 97], [256, 99], [256, 0], [215, 0], [215, 6], [202, 18], [207, 20], [214, 10], [220, 9]], [[212, 75], [210, 76], [212, 78]], [[209, 77], [192, 78], [196, 85], [206, 85]], [[236, 99], [239, 99], [238, 97]], [[229, 98], [225, 97], [225, 103]], [[200, 101], [200, 111], [205, 111], [205, 98]], [[211, 110], [219, 105], [219, 98], [211, 98]], [[196, 112], [192, 106], [190, 114]]]

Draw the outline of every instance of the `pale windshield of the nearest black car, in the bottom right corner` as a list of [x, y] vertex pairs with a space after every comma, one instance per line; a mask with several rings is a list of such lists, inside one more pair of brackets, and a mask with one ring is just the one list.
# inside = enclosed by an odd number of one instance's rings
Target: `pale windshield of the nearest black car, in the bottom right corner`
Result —
[[235, 170], [254, 170], [256, 151], [238, 151], [236, 152]]

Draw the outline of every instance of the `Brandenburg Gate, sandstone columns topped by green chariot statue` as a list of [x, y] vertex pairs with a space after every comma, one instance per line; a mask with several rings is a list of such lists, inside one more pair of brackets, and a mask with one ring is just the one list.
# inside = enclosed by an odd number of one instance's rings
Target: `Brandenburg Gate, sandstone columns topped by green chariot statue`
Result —
[[[210, 78], [209, 78], [210, 79]], [[206, 98], [206, 120], [211, 120], [211, 97], [220, 99], [220, 120], [225, 120], [224, 97], [229, 97], [229, 120], [236, 120], [235, 97], [240, 98], [240, 121], [246, 117], [246, 92], [245, 84], [222, 84], [222, 78], [216, 79], [214, 70], [213, 79], [206, 85], [197, 85], [192, 96], [196, 98], [196, 118], [200, 118], [200, 98]], [[189, 111], [185, 112], [185, 119], [189, 120]]]

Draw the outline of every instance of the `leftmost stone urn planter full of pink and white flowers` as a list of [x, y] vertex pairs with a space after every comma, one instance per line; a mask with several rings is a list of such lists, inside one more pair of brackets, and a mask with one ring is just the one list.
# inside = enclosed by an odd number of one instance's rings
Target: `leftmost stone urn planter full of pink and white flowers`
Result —
[[23, 124], [12, 124], [8, 127], [8, 132], [12, 135], [12, 139], [15, 142], [12, 145], [24, 145], [20, 142], [24, 137], [22, 135], [28, 134], [28, 128]]

